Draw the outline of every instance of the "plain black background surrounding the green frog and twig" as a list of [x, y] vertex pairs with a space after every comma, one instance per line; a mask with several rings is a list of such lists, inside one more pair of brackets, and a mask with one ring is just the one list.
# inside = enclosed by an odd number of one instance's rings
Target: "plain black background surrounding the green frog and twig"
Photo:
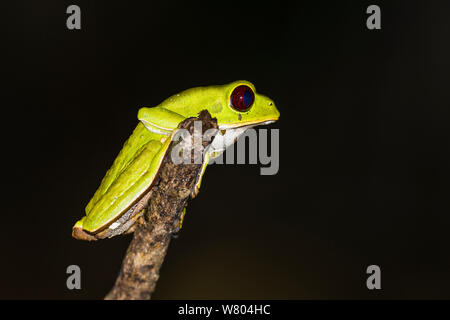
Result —
[[[66, 28], [77, 4], [82, 29]], [[366, 28], [378, 4], [382, 29]], [[0, 298], [99, 299], [130, 236], [73, 223], [137, 124], [181, 90], [252, 81], [280, 170], [214, 165], [154, 298], [450, 298], [446, 1], [16, 1], [2, 20]], [[66, 268], [82, 290], [66, 288]], [[377, 264], [382, 289], [366, 288]]]

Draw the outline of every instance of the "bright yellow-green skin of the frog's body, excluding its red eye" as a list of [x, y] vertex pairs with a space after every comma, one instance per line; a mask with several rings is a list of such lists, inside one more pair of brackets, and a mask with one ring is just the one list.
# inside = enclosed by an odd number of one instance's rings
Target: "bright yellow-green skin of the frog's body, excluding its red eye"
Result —
[[[239, 112], [230, 106], [230, 95], [240, 85], [247, 85], [255, 94], [255, 100], [246, 112]], [[136, 219], [137, 212], [134, 212], [134, 218], [133, 214], [130, 218], [120, 218], [125, 213], [128, 217], [130, 208], [137, 205], [151, 189], [175, 129], [179, 123], [189, 117], [198, 116], [199, 112], [205, 109], [217, 119], [219, 130], [226, 130], [229, 135], [235, 132], [236, 137], [246, 128], [273, 122], [280, 116], [275, 103], [258, 94], [253, 84], [244, 80], [220, 86], [188, 89], [173, 95], [156, 107], [141, 108], [138, 112], [140, 123], [125, 142], [86, 206], [86, 216], [74, 225], [72, 235], [80, 240], [97, 240], [127, 231], [134, 223], [134, 220], [130, 219]], [[221, 152], [223, 148], [215, 152], [212, 149], [210, 153], [216, 157]], [[194, 195], [198, 193], [210, 153], [204, 158]], [[137, 207], [139, 211], [142, 209]], [[119, 223], [120, 220], [122, 221]], [[121, 227], [120, 232], [103, 232], [103, 236], [100, 236], [105, 229], [113, 230], [118, 225], [124, 225], [124, 221], [128, 223]]]

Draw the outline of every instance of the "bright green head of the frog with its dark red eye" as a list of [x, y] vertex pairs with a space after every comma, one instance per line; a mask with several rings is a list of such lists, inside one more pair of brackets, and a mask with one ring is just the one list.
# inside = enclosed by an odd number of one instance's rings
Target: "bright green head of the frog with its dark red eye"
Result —
[[232, 129], [272, 123], [280, 117], [272, 99], [256, 92], [255, 86], [245, 80], [211, 87], [216, 91], [208, 108], [217, 118], [219, 129]]

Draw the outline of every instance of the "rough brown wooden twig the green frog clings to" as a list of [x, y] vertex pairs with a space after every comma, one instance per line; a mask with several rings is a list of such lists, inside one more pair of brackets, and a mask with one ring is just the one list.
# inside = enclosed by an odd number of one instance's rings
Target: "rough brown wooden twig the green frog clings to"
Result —
[[[180, 124], [193, 136], [194, 121], [202, 121], [202, 133], [216, 128], [216, 119], [208, 111]], [[202, 142], [205, 147], [209, 142]], [[170, 149], [176, 145], [172, 142]], [[198, 146], [194, 145], [194, 148]], [[174, 164], [170, 150], [159, 172], [159, 182], [152, 188], [144, 222], [136, 227], [116, 283], [106, 300], [150, 299], [159, 278], [172, 234], [191, 195], [201, 164]]]

